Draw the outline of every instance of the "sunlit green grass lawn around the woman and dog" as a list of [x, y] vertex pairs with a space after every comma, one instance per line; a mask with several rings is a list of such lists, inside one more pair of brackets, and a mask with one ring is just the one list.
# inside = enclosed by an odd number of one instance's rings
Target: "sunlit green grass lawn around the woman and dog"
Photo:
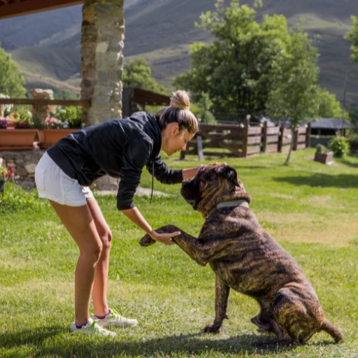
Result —
[[[235, 166], [259, 222], [295, 259], [313, 286], [326, 317], [343, 331], [335, 345], [316, 334], [305, 345], [262, 350], [253, 300], [232, 292], [222, 334], [200, 334], [214, 317], [214, 273], [176, 245], [138, 245], [143, 232], [115, 208], [115, 196], [97, 196], [113, 231], [108, 301], [138, 327], [117, 338], [70, 334], [78, 249], [46, 201], [36, 194], [0, 208], [0, 357], [357, 357], [358, 157], [313, 162], [314, 150], [224, 159]], [[173, 169], [196, 158], [165, 158]], [[207, 162], [220, 162], [212, 158]], [[145, 172], [141, 185], [150, 187]], [[136, 197], [152, 227], [176, 224], [197, 235], [203, 218], [180, 196], [180, 185], [155, 189], [172, 196]], [[13, 194], [15, 198], [17, 194]], [[15, 199], [8, 199], [15, 200]], [[22, 207], [20, 207], [22, 206]]]

